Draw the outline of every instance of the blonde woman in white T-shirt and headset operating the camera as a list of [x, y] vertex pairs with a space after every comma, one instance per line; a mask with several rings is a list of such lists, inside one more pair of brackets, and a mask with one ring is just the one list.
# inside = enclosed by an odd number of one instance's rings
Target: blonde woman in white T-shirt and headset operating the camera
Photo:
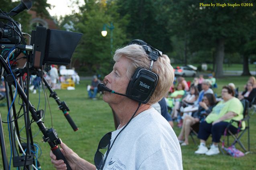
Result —
[[[118, 129], [100, 140], [95, 165], [80, 158], [64, 143], [60, 146], [72, 170], [168, 169], [181, 170], [181, 148], [170, 124], [151, 104], [161, 100], [173, 83], [174, 72], [167, 55], [150, 45], [131, 44], [118, 49], [112, 72], [98, 88], [120, 120]], [[100, 149], [108, 148], [101, 153]], [[63, 160], [51, 161], [58, 170]]]

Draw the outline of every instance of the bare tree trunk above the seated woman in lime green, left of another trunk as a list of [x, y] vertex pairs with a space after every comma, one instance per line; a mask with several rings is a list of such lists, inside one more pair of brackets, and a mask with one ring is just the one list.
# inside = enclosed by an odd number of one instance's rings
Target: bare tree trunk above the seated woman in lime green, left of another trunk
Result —
[[216, 56], [215, 56], [215, 77], [221, 78], [223, 77], [223, 59], [224, 59], [224, 39], [217, 40], [216, 47]]

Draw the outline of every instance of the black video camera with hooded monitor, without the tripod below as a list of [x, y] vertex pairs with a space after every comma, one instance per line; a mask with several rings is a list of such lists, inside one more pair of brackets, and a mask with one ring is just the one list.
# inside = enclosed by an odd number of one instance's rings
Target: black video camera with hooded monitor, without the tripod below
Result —
[[28, 67], [32, 69], [42, 68], [44, 64], [69, 64], [82, 34], [37, 26], [31, 33], [30, 45], [26, 45], [21, 25], [10, 17], [31, 7], [30, 0], [21, 0], [21, 3], [9, 13], [1, 11], [0, 19], [8, 21], [0, 22], [1, 55], [7, 58], [9, 50], [15, 47], [15, 56], [11, 58], [14, 60], [21, 51], [26, 51], [24, 54], [28, 57]]

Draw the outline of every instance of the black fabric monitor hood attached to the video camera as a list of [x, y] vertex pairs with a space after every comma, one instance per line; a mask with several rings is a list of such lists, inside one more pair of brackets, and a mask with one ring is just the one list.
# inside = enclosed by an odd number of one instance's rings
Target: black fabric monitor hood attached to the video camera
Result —
[[32, 31], [30, 45], [30, 63], [32, 68], [41, 68], [44, 64], [67, 65], [83, 34], [63, 30], [46, 29], [37, 26]]

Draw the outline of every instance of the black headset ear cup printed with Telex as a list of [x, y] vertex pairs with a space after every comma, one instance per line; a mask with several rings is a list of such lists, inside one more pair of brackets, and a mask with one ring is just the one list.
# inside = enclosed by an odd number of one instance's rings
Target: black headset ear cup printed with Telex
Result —
[[127, 86], [126, 94], [140, 96], [138, 98], [128, 98], [146, 104], [156, 88], [157, 81], [158, 76], [154, 72], [144, 68], [137, 68]]

